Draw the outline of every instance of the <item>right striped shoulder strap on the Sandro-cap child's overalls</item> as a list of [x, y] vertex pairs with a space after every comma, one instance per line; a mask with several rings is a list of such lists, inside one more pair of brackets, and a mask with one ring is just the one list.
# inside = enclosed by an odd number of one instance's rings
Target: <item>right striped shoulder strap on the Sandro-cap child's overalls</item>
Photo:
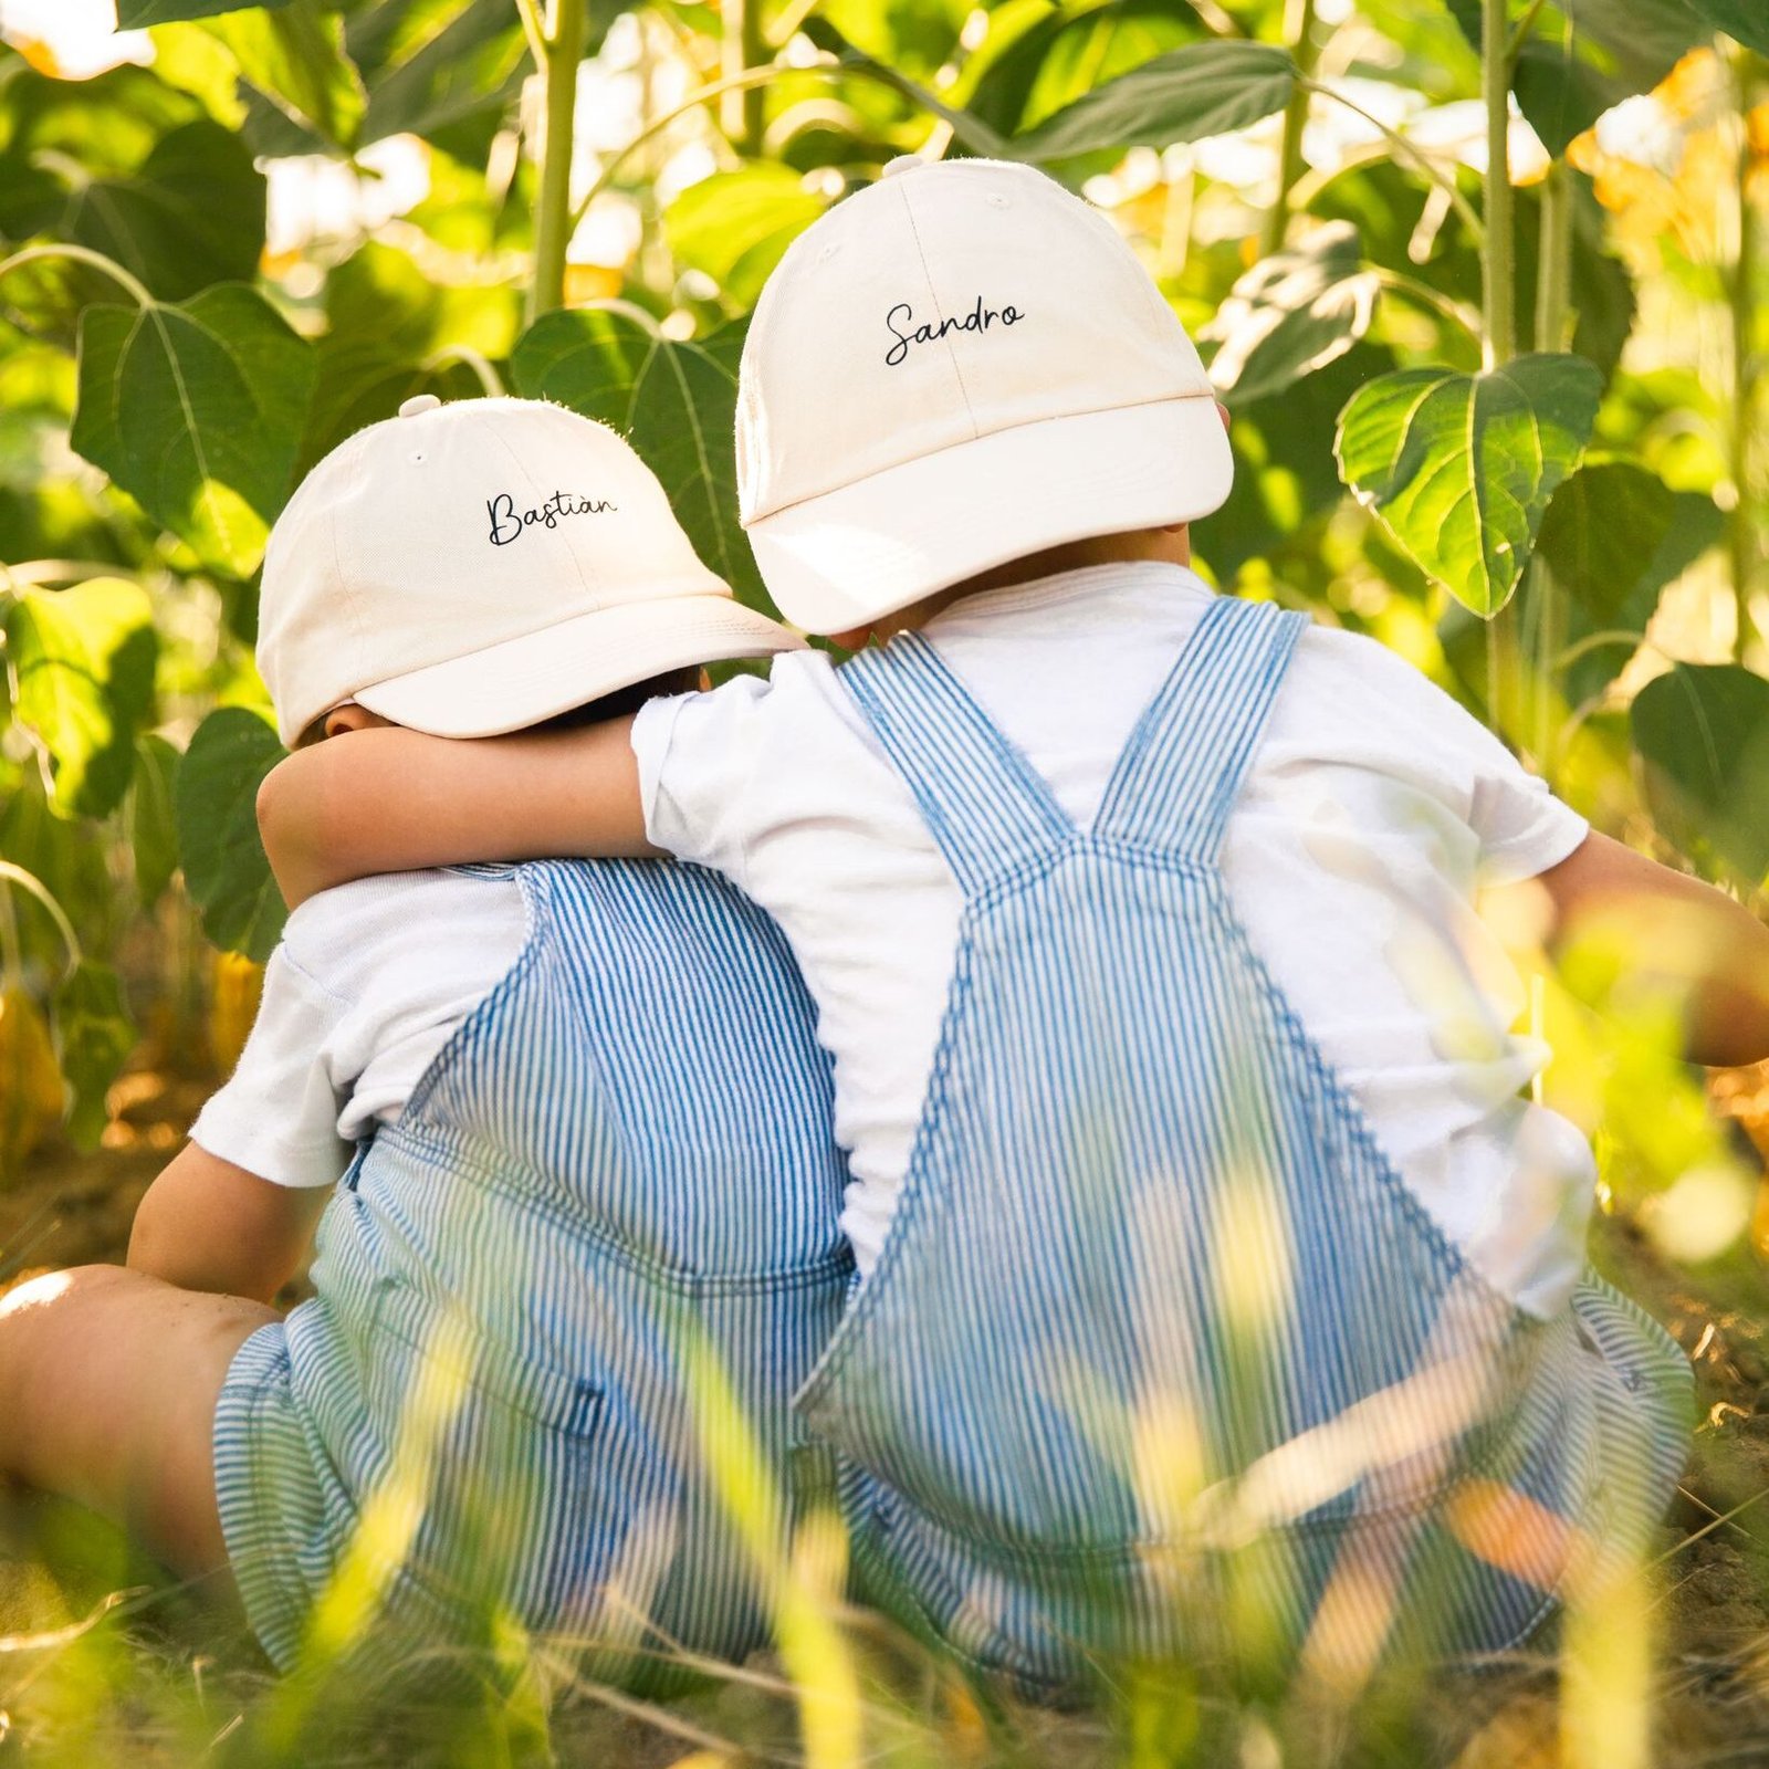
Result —
[[1306, 614], [1219, 596], [1125, 745], [1095, 835], [1210, 863]]

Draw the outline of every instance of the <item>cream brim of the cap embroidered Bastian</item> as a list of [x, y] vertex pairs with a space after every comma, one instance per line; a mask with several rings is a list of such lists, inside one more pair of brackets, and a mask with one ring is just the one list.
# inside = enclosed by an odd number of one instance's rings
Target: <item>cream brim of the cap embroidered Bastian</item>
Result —
[[633, 601], [359, 688], [352, 699], [435, 738], [494, 738], [665, 670], [801, 651], [805, 640], [729, 596]]

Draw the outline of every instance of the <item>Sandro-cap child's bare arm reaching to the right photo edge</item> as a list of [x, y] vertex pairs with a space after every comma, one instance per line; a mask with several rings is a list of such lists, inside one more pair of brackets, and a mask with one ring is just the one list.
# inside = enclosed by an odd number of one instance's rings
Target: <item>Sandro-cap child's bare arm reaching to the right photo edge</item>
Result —
[[1557, 946], [1613, 934], [1640, 973], [1682, 996], [1691, 1061], [1769, 1058], [1769, 927], [1744, 904], [1596, 831], [1537, 883]]

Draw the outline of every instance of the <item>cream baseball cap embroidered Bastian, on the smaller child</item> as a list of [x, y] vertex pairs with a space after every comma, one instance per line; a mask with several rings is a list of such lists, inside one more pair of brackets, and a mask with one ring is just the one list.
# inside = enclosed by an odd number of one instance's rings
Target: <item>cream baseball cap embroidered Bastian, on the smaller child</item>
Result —
[[621, 437], [541, 400], [407, 400], [308, 474], [264, 555], [285, 743], [345, 701], [486, 738], [801, 644], [701, 564]]

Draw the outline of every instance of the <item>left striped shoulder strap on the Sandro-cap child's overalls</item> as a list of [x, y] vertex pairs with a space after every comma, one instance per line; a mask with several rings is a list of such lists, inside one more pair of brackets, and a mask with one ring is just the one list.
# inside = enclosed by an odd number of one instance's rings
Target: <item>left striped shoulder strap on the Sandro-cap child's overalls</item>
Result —
[[968, 897], [1076, 833], [1031, 762], [920, 633], [862, 651], [840, 679]]

